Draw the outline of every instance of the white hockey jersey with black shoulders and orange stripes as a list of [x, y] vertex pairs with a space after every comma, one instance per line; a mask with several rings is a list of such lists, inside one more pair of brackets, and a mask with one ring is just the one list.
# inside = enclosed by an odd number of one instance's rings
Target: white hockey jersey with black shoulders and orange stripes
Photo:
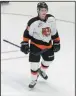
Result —
[[55, 17], [47, 14], [45, 20], [41, 20], [38, 16], [30, 19], [23, 35], [25, 42], [28, 42], [29, 39], [40, 49], [51, 48], [52, 40], [60, 40], [56, 30]]

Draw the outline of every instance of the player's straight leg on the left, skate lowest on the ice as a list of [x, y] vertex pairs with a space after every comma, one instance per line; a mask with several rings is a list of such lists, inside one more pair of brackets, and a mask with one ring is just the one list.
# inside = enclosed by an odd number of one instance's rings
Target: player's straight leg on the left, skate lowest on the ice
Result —
[[[34, 45], [31, 45], [30, 50], [32, 53], [37, 53], [40, 51], [37, 47]], [[38, 78], [38, 69], [39, 69], [39, 61], [40, 61], [40, 55], [36, 56], [30, 52], [29, 54], [29, 62], [30, 62], [30, 70], [31, 70], [31, 82], [29, 84], [30, 88], [33, 88], [37, 83]]]

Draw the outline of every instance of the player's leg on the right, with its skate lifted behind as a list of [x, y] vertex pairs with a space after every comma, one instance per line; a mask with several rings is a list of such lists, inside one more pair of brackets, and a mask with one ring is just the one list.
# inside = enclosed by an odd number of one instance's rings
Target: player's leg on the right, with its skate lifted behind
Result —
[[44, 78], [48, 79], [46, 74], [46, 70], [49, 68], [50, 64], [54, 60], [54, 52], [53, 49], [49, 49], [45, 53], [42, 54], [43, 60], [41, 62], [41, 67], [39, 69], [39, 74]]

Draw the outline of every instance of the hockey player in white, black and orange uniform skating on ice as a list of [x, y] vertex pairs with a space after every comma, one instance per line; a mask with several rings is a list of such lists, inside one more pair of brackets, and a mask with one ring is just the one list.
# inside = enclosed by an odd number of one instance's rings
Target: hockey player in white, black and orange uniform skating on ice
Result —
[[[29, 88], [33, 88], [37, 83], [37, 78], [41, 75], [45, 80], [48, 79], [46, 69], [54, 60], [54, 52], [60, 50], [60, 38], [56, 29], [55, 17], [47, 14], [48, 5], [45, 2], [37, 4], [38, 16], [30, 19], [27, 28], [23, 34], [21, 42], [21, 51], [29, 53], [29, 62], [31, 64], [31, 82]], [[29, 40], [30, 46], [29, 46]], [[48, 49], [46, 52], [35, 55], [36, 53]], [[34, 53], [34, 54], [32, 54]], [[40, 57], [42, 56], [41, 66], [39, 68]]]

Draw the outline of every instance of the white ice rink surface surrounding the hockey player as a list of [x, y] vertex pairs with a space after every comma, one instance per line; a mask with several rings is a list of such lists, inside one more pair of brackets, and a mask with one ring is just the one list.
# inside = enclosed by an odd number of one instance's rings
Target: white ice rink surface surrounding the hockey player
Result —
[[[30, 4], [30, 5], [29, 5]], [[31, 7], [31, 5], [33, 7]], [[20, 46], [23, 31], [31, 16], [3, 13], [36, 15], [36, 3], [10, 3], [1, 7], [1, 96], [74, 96], [75, 94], [75, 24], [74, 3], [48, 3], [49, 12], [56, 21], [61, 39], [61, 50], [47, 70], [45, 81], [41, 77], [33, 90], [29, 90], [30, 63], [28, 55], [20, 49], [3, 42], [9, 40]], [[50, 11], [51, 10], [51, 11]], [[4, 53], [7, 51], [15, 51]], [[10, 59], [8, 59], [10, 58]]]

